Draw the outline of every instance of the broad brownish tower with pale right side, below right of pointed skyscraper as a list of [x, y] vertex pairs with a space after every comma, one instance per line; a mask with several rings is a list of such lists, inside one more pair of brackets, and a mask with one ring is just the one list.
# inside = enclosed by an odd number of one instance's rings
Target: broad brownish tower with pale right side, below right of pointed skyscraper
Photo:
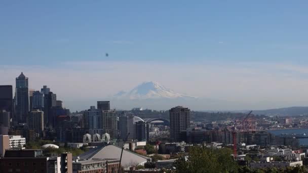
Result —
[[32, 110], [28, 117], [28, 127], [40, 136], [44, 135], [44, 112]]

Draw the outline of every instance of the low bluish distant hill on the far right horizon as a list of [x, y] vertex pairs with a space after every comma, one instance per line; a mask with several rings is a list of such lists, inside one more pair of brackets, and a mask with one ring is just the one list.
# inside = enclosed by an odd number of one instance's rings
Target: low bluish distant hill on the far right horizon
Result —
[[296, 115], [308, 115], [308, 107], [296, 106], [279, 109], [267, 109], [267, 110], [255, 110], [255, 115], [283, 115], [283, 116], [296, 116]]

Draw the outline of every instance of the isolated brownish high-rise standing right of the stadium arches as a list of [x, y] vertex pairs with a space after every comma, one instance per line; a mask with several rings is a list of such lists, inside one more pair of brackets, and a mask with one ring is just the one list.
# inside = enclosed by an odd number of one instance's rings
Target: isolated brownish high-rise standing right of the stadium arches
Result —
[[186, 131], [186, 128], [189, 127], [190, 110], [182, 106], [177, 106], [169, 110], [169, 116], [171, 141], [179, 142], [181, 131]]

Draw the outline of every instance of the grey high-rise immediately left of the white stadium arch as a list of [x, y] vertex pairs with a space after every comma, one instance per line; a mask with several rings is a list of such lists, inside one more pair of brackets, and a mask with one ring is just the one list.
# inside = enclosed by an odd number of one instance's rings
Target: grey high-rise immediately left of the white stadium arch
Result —
[[134, 124], [133, 114], [122, 115], [119, 117], [119, 131], [120, 131], [120, 139], [122, 140], [135, 139], [135, 124]]

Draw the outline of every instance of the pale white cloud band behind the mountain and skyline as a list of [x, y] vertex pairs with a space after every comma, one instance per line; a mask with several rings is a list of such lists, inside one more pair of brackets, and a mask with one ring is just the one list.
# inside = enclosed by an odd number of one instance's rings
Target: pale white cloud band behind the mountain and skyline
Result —
[[[0, 83], [15, 86], [21, 71], [29, 77], [30, 88], [39, 90], [48, 85], [64, 102], [105, 98], [148, 80], [178, 93], [251, 103], [251, 109], [295, 106], [308, 100], [308, 70], [288, 63], [86, 61], [48, 67], [0, 65]], [[235, 109], [248, 108], [239, 104]]]

